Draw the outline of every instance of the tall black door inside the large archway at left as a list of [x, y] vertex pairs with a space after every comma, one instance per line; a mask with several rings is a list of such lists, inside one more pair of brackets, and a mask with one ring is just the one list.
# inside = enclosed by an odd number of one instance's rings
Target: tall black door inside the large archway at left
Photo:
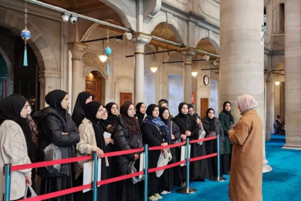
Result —
[[15, 39], [14, 93], [27, 98], [33, 112], [39, 109], [40, 82], [38, 78], [39, 65], [33, 49], [27, 43], [27, 63], [23, 66], [24, 41], [21, 37]]

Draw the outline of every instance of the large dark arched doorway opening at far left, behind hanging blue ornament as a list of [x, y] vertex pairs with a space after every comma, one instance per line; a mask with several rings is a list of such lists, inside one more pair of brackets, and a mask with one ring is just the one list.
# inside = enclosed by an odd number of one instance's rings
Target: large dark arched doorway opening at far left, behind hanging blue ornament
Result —
[[[37, 111], [40, 105], [40, 86], [38, 80], [39, 65], [36, 55], [27, 43], [28, 66], [23, 66], [24, 41], [19, 34], [0, 26], [0, 46], [7, 53], [8, 58], [14, 61], [13, 66], [13, 93], [19, 93], [29, 100], [33, 111]], [[2, 84], [8, 83], [2, 82]], [[2, 87], [3, 89], [3, 87]], [[7, 89], [7, 87], [6, 87]], [[8, 93], [6, 93], [8, 94]]]

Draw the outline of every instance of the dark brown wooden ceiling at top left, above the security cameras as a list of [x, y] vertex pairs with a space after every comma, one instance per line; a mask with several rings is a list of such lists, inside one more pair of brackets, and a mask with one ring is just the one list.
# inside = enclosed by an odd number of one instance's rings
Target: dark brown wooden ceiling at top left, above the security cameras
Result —
[[111, 9], [99, 0], [40, 0], [79, 14]]

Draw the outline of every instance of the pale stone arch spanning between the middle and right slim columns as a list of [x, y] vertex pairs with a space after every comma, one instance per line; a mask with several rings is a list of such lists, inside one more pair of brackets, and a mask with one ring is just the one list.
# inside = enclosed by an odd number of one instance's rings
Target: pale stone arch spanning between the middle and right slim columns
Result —
[[167, 25], [172, 30], [178, 43], [186, 44], [187, 36], [185, 27], [181, 26], [176, 18], [166, 12], [159, 11], [148, 24], [144, 25], [144, 30], [147, 34], [151, 34], [160, 24]]

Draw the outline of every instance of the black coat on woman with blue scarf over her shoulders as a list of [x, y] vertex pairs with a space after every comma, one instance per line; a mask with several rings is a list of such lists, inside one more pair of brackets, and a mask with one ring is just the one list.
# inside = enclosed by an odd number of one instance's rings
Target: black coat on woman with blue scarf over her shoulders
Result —
[[[149, 147], [161, 146], [162, 143], [168, 142], [167, 133], [163, 128], [159, 128], [152, 124], [143, 123], [141, 125], [143, 144]], [[148, 168], [156, 168], [160, 157], [160, 150], [153, 150], [148, 155]]]

